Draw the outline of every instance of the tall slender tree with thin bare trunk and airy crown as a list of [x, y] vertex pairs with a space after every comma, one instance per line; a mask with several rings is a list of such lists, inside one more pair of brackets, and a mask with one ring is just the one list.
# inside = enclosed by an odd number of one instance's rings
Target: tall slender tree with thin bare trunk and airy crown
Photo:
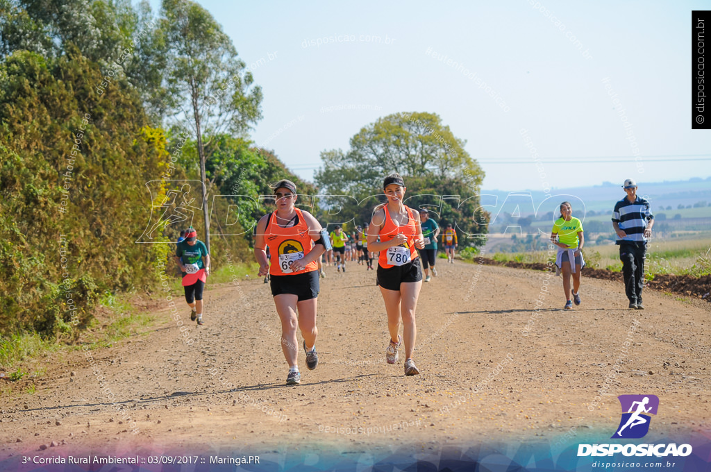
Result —
[[262, 90], [237, 57], [232, 41], [203, 7], [189, 0], [164, 0], [160, 34], [166, 51], [169, 109], [179, 127], [196, 138], [203, 182], [205, 244], [210, 249], [208, 193], [220, 169], [208, 178], [205, 161], [219, 148], [218, 136], [244, 136], [262, 117]]

